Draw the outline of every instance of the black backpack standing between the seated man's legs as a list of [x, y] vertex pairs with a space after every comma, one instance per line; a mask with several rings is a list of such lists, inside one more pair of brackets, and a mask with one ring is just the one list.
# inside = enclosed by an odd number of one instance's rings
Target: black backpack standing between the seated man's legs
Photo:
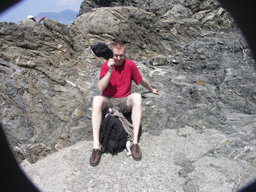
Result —
[[128, 134], [124, 131], [124, 127], [118, 117], [108, 114], [100, 127], [100, 143], [102, 144], [102, 152], [117, 155], [126, 147]]

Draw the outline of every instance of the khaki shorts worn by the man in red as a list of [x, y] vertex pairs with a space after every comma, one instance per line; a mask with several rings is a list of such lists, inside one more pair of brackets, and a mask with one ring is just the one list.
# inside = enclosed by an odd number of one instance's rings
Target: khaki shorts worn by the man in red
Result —
[[101, 96], [103, 96], [106, 99], [106, 107], [102, 111], [103, 113], [107, 113], [108, 109], [113, 108], [113, 107], [119, 107], [120, 111], [122, 113], [131, 112], [126, 107], [127, 98], [129, 95], [127, 95], [126, 97], [121, 97], [121, 98], [107, 97], [105, 95], [101, 95]]

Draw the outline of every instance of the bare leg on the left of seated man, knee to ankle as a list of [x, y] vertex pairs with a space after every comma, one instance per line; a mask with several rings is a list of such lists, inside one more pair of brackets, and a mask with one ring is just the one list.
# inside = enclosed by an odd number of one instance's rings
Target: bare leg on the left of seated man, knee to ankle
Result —
[[93, 148], [100, 148], [101, 111], [106, 107], [106, 100], [102, 96], [95, 96], [92, 101], [92, 133]]

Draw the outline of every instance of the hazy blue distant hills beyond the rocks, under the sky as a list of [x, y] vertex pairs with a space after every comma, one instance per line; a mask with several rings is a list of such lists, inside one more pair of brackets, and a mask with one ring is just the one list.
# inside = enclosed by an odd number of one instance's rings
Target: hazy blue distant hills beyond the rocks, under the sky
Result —
[[76, 19], [76, 15], [79, 13], [74, 12], [72, 10], [66, 9], [61, 12], [40, 12], [36, 15], [35, 19], [38, 21], [40, 20], [41, 16], [44, 16], [45, 19], [55, 19], [59, 23], [68, 25], [68, 23], [73, 23]]

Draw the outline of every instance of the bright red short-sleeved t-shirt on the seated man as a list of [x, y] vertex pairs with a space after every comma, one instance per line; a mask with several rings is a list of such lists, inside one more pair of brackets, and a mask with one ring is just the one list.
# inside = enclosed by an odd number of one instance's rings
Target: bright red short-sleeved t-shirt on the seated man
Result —
[[[102, 64], [100, 69], [100, 79], [108, 71], [108, 62]], [[102, 95], [114, 98], [126, 97], [131, 94], [132, 80], [138, 85], [142, 76], [131, 60], [124, 60], [123, 64], [114, 65], [114, 70], [111, 73], [108, 86], [102, 92]]]

